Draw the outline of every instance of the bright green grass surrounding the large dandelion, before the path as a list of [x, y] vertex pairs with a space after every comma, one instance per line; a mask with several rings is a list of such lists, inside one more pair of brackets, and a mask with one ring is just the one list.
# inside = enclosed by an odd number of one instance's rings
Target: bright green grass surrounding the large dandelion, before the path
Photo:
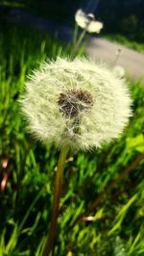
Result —
[[[59, 152], [29, 135], [18, 99], [33, 68], [68, 53], [36, 31], [0, 34], [0, 256], [41, 255]], [[144, 83], [128, 84], [133, 116], [121, 138], [67, 158], [54, 255], [144, 255]]]

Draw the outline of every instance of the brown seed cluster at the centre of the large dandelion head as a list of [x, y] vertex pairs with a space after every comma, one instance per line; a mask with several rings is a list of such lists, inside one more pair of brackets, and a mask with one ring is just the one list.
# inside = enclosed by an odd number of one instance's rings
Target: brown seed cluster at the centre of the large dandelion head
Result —
[[66, 90], [60, 93], [58, 104], [60, 112], [72, 118], [91, 109], [93, 98], [88, 90]]

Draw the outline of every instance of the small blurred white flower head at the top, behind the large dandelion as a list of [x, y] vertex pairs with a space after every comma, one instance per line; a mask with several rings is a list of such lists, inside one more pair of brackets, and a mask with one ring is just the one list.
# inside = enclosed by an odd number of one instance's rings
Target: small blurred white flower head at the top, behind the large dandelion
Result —
[[92, 13], [85, 14], [81, 9], [75, 14], [75, 20], [81, 28], [89, 33], [100, 33], [103, 23], [95, 20]]

